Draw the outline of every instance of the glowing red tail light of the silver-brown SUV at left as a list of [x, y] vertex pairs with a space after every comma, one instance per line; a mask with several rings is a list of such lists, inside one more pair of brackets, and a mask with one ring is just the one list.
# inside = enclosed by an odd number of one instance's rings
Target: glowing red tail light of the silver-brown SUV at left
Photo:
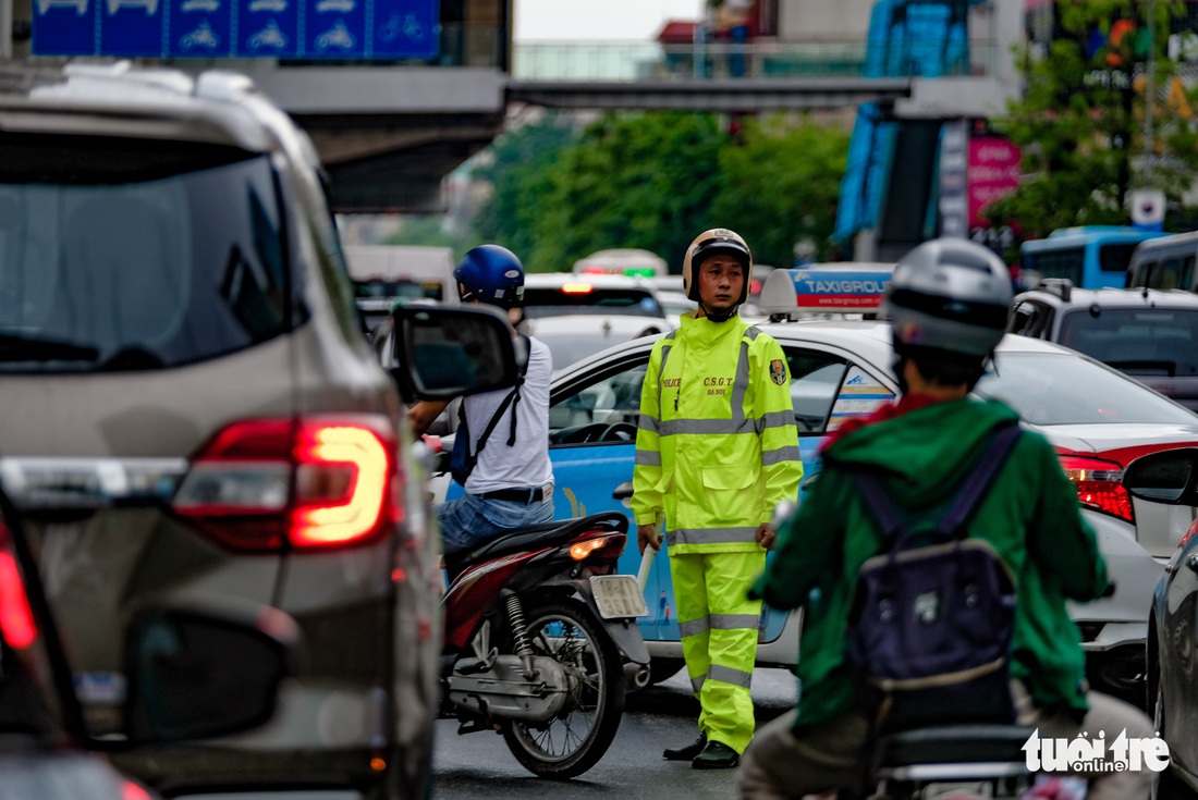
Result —
[[395, 451], [383, 417], [243, 420], [192, 459], [171, 507], [234, 550], [362, 544], [403, 519]]

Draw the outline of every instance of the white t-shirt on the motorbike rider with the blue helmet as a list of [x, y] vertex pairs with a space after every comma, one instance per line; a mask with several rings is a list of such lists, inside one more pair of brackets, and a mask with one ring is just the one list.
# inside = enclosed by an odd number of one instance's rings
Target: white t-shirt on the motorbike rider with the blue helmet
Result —
[[[471, 495], [496, 489], [532, 489], [553, 480], [549, 462], [549, 377], [553, 360], [545, 343], [528, 338], [528, 371], [520, 388], [520, 402], [508, 404], [500, 422], [486, 437], [474, 471], [466, 479]], [[466, 424], [470, 426], [470, 451], [478, 451], [478, 437], [498, 410], [510, 388], [462, 398]], [[516, 412], [516, 441], [508, 447], [512, 434], [512, 407]]]

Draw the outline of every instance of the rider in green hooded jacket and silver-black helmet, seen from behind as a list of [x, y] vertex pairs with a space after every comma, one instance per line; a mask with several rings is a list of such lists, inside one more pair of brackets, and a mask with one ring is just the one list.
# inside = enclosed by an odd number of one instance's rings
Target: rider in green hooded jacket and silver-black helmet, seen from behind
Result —
[[[940, 508], [993, 431], [1017, 419], [997, 400], [969, 398], [1003, 338], [1011, 289], [1006, 267], [966, 240], [934, 240], [896, 266], [885, 313], [894, 328], [902, 399], [824, 446], [823, 467], [751, 596], [803, 608], [799, 699], [757, 732], [744, 753], [745, 800], [801, 798], [855, 786], [870, 717], [846, 661], [849, 604], [861, 564], [881, 550], [881, 529], [851, 471], [866, 468], [904, 514]], [[1002, 358], [997, 360], [1002, 369]], [[1112, 743], [1155, 735], [1135, 707], [1088, 691], [1085, 659], [1066, 600], [1099, 598], [1107, 571], [1094, 531], [1052, 446], [1024, 430], [980, 501], [970, 535], [987, 540], [1015, 576], [1010, 679], [1016, 719], [1042, 738]], [[1149, 796], [1155, 774], [1095, 776], [1090, 800]]]

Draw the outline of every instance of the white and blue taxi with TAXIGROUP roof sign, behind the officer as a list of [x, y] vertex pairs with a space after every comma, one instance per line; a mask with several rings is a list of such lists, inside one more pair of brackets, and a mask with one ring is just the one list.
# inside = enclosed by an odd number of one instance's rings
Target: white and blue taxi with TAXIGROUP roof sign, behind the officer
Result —
[[[804, 481], [819, 469], [824, 437], [846, 419], [871, 413], [898, 393], [891, 375], [890, 328], [871, 320], [889, 280], [888, 265], [779, 269], [763, 290], [760, 327], [786, 352], [804, 462]], [[813, 319], [845, 313], [863, 319]], [[658, 337], [634, 339], [559, 370], [550, 395], [550, 456], [558, 519], [625, 510], [641, 383]], [[1194, 509], [1132, 499], [1123, 471], [1140, 455], [1198, 444], [1198, 414], [1101, 363], [1051, 343], [1008, 335], [997, 369], [976, 393], [1016, 408], [1043, 434], [1077, 486], [1083, 513], [1099, 534], [1114, 593], [1072, 607], [1091, 654], [1096, 686], [1138, 698], [1143, 691], [1146, 612], [1161, 570], [1155, 553], [1172, 550]], [[460, 495], [452, 485], [448, 497]], [[621, 569], [636, 574], [629, 547]], [[654, 558], [647, 584], [649, 616], [641, 634], [653, 655], [654, 679], [683, 665], [673, 588], [665, 552]], [[798, 618], [766, 610], [757, 663], [793, 667]]]

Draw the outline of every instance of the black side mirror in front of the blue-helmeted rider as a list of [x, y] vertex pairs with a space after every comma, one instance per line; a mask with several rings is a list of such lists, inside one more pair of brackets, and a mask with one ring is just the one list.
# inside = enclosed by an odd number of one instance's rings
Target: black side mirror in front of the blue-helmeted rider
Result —
[[513, 386], [528, 359], [507, 316], [489, 305], [401, 305], [386, 360], [405, 400], [449, 400]]

